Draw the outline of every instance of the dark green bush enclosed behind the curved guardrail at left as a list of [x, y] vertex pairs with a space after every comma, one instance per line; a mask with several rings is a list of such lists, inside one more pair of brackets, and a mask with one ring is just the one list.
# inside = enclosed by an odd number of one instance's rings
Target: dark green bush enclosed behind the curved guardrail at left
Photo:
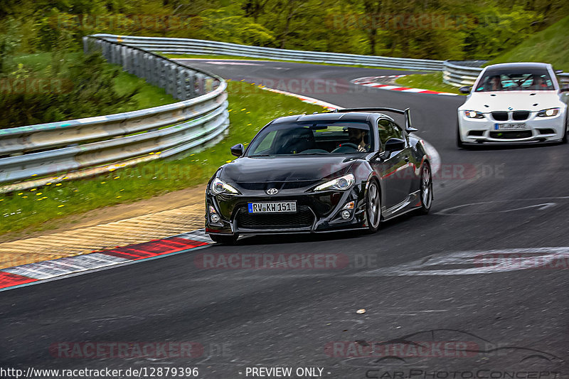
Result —
[[119, 93], [115, 80], [120, 68], [101, 55], [53, 53], [44, 58], [43, 67], [20, 62], [0, 78], [0, 127], [111, 114], [134, 105], [140, 88]]

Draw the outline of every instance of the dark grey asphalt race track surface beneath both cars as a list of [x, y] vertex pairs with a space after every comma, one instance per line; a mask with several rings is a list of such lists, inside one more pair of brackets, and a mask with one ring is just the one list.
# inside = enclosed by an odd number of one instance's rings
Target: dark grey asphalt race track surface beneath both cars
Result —
[[[1, 367], [175, 366], [198, 368], [198, 378], [260, 377], [267, 372], [252, 368], [276, 367], [292, 368], [292, 378], [569, 378], [568, 145], [459, 150], [464, 97], [349, 82], [407, 71], [191, 64], [273, 87], [282, 79], [290, 92], [297, 80], [297, 93], [342, 107], [410, 107], [418, 134], [442, 159], [431, 213], [384, 223], [374, 235], [248, 237], [1, 292]], [[309, 84], [317, 79], [324, 90]], [[335, 263], [203, 268], [233, 254], [276, 261], [291, 253]], [[199, 346], [191, 358], [93, 357], [81, 348], [67, 358], [61, 348], [185, 341]], [[276, 374], [265, 378], [287, 377]]]

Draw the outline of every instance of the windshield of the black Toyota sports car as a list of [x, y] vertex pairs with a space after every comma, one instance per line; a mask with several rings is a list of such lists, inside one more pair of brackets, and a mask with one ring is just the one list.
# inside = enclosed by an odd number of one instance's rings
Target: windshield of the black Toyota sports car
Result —
[[366, 122], [292, 122], [263, 129], [247, 156], [354, 154], [371, 150]]

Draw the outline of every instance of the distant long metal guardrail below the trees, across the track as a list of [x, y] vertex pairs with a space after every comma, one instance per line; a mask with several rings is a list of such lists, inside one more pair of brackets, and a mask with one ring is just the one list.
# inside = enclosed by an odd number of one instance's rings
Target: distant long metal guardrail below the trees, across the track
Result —
[[161, 53], [238, 55], [251, 58], [298, 60], [301, 62], [334, 63], [342, 65], [369, 65], [432, 71], [442, 70], [443, 63], [442, 60], [390, 58], [375, 55], [262, 48], [258, 46], [245, 46], [235, 43], [204, 41], [190, 38], [115, 36], [113, 34], [95, 34], [95, 36], [104, 38], [107, 41], [124, 43], [127, 46], [136, 46], [143, 50], [159, 51]]

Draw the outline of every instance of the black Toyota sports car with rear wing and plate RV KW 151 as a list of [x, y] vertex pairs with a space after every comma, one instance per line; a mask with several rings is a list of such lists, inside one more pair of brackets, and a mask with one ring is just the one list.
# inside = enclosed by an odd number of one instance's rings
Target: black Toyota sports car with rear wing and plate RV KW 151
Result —
[[[378, 112], [405, 114], [405, 129]], [[280, 117], [231, 148], [206, 189], [206, 233], [239, 235], [378, 230], [432, 203], [429, 156], [409, 110], [355, 108]]]

